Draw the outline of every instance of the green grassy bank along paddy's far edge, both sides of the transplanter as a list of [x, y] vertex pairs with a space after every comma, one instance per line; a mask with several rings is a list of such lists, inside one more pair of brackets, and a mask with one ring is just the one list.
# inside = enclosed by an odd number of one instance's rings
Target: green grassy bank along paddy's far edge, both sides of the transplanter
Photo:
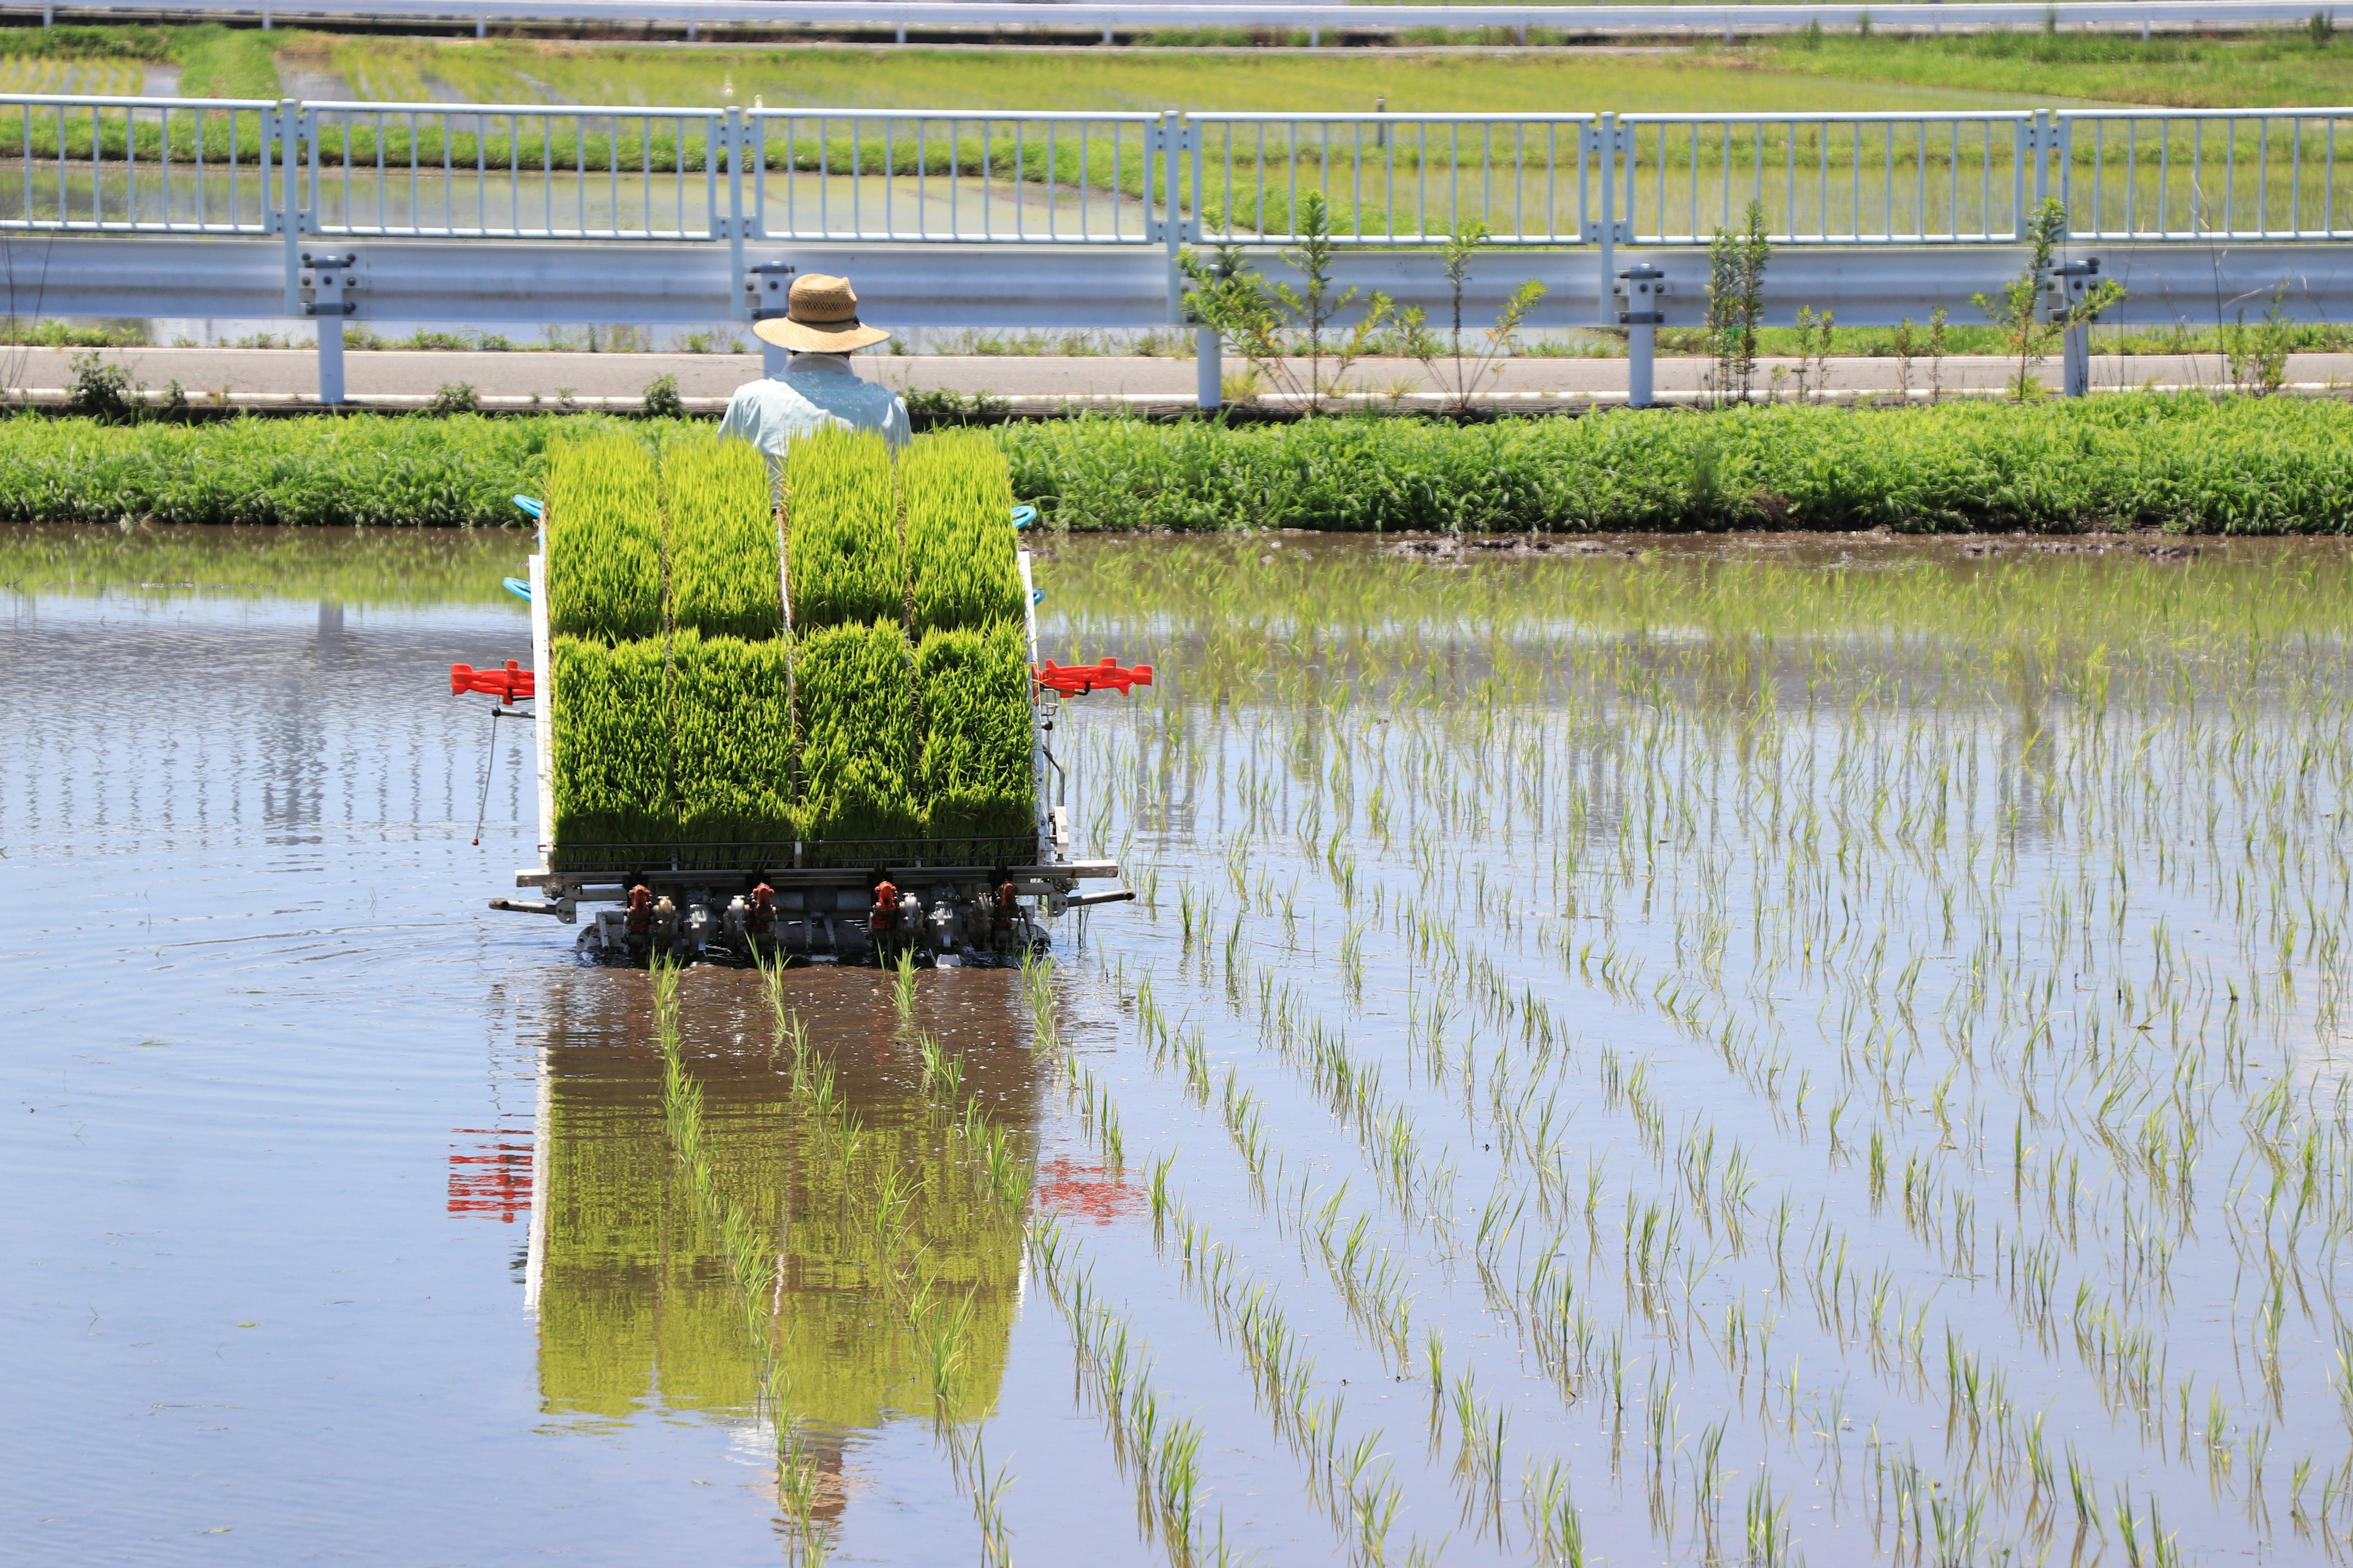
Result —
[[[584, 435], [619, 425], [572, 418]], [[511, 524], [520, 512], [508, 496], [544, 489], [560, 428], [560, 416], [132, 428], [19, 418], [0, 423], [0, 520]], [[656, 447], [708, 442], [694, 421], [626, 428]], [[1012, 463], [1014, 498], [1068, 529], [2353, 527], [2344, 463], [2353, 407], [2318, 400], [2122, 393], [2035, 407], [1784, 404], [1461, 428], [1374, 416], [1261, 428], [1078, 418], [1002, 425], [993, 440]], [[40, 545], [16, 571], [52, 571], [40, 562], [56, 550]], [[908, 555], [922, 574], [932, 555], [920, 534]], [[927, 618], [936, 611], [925, 609], [922, 578], [908, 588], [922, 625], [948, 623]], [[885, 595], [838, 618], [906, 614]]]

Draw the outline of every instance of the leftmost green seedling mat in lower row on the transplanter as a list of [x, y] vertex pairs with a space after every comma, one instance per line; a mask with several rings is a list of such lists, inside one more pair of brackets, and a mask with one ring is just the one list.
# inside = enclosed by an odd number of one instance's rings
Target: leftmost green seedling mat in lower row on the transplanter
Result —
[[671, 792], [668, 677], [661, 639], [558, 637], [555, 865], [584, 844], [666, 844]]

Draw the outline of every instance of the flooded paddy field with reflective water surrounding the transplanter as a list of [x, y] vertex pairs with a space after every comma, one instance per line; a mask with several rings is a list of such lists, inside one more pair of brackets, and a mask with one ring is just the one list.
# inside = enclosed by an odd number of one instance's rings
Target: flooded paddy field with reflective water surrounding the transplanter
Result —
[[904, 980], [487, 912], [332, 538], [0, 536], [28, 1561], [2341, 1554], [2341, 545], [1049, 541], [1139, 903]]

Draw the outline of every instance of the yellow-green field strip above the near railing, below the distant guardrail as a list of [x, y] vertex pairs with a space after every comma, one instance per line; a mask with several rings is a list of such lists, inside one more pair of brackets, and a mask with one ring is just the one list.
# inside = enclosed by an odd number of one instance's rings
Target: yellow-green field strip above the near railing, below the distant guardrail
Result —
[[[478, 103], [821, 103], [828, 108], [1266, 108], [1398, 113], [1619, 113], [1984, 108], [2040, 101], [2344, 103], [2353, 40], [1993, 33], [1781, 40], [1661, 54], [1593, 49], [1428, 54], [1320, 49], [925, 49], [379, 40], [294, 45], [358, 96]], [[292, 49], [289, 49], [292, 59]]]

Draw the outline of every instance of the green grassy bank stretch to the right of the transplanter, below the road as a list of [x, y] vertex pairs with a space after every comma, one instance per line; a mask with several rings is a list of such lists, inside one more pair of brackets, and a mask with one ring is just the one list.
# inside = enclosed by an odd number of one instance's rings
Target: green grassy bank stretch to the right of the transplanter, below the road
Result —
[[2341, 534], [2353, 407], [2184, 393], [1440, 425], [1002, 425], [1068, 529], [2026, 529]]

